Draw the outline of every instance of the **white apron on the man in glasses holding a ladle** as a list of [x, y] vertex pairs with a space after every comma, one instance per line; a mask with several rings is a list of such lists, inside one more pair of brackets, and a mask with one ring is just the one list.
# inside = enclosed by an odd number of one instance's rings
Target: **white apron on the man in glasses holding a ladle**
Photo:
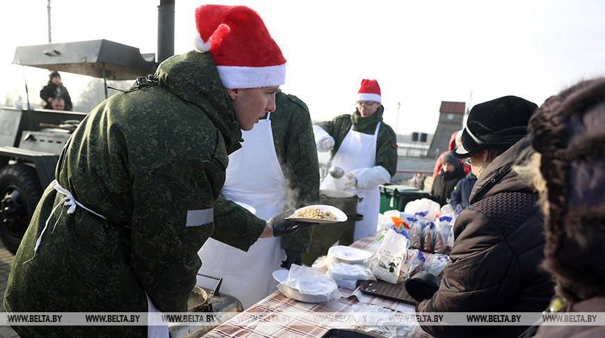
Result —
[[[340, 167], [346, 173], [355, 169], [376, 166], [376, 140], [379, 128], [380, 122], [376, 125], [374, 134], [370, 135], [353, 131], [353, 126], [351, 126], [338, 151], [334, 154], [334, 158], [332, 158], [332, 166]], [[331, 176], [328, 175], [321, 182], [320, 189], [331, 190], [333, 188]], [[357, 204], [357, 214], [364, 216], [363, 220], [355, 222], [353, 241], [357, 241], [357, 239], [362, 239], [376, 232], [378, 214], [380, 213], [380, 190], [378, 186], [374, 186], [373, 188], [346, 191], [363, 199]]]

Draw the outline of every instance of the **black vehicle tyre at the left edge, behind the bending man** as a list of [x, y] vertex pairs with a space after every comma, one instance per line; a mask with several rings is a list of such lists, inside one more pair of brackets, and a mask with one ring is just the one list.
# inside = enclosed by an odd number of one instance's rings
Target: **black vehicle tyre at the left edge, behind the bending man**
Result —
[[19, 248], [41, 196], [42, 186], [34, 168], [15, 164], [0, 170], [0, 236], [13, 254]]

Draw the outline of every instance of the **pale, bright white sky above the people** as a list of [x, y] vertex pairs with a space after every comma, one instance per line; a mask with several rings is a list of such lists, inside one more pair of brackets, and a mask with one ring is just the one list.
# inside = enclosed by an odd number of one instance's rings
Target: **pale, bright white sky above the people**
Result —
[[[364, 78], [378, 80], [385, 121], [405, 134], [433, 133], [442, 101], [517, 95], [539, 105], [580, 79], [605, 75], [601, 0], [213, 3], [257, 10], [288, 60], [282, 89], [305, 101], [316, 120], [351, 113]], [[106, 39], [154, 53], [158, 4], [53, 0], [52, 40]], [[177, 54], [193, 49], [200, 4], [176, 0]], [[15, 47], [48, 42], [47, 0], [2, 1], [0, 10], [0, 101], [5, 92], [24, 95], [25, 73], [38, 102], [48, 72], [10, 63]], [[63, 74], [72, 97], [88, 79]]]

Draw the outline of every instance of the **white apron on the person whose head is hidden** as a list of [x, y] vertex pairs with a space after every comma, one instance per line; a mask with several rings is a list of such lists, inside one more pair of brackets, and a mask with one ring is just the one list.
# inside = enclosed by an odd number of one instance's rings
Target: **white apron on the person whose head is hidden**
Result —
[[[277, 159], [271, 113], [250, 131], [242, 131], [244, 142], [229, 155], [227, 177], [221, 195], [256, 209], [264, 220], [283, 211], [286, 180]], [[208, 239], [197, 252], [202, 259], [200, 273], [222, 277], [220, 292], [239, 299], [244, 309], [277, 290], [273, 271], [286, 259], [280, 238], [259, 239], [248, 252]], [[213, 288], [216, 280], [197, 276], [197, 285]]]

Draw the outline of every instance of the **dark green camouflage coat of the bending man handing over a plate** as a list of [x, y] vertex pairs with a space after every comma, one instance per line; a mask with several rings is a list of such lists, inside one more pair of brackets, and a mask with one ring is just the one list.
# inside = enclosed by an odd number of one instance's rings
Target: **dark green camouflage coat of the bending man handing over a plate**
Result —
[[[158, 84], [99, 104], [65, 145], [56, 182], [88, 209], [56, 211], [51, 184], [17, 251], [4, 298], [12, 312], [186, 312], [213, 238], [247, 250], [266, 222], [219, 198], [241, 129], [211, 56], [190, 51]], [[63, 207], [63, 209], [67, 209]], [[56, 226], [55, 226], [56, 223]], [[146, 337], [145, 326], [15, 327], [22, 337]]]

